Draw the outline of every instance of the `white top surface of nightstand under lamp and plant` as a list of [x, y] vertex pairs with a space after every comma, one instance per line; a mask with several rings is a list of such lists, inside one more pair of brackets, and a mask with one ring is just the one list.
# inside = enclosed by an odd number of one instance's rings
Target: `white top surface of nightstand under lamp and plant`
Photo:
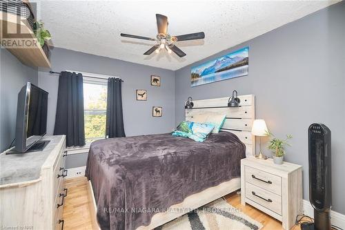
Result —
[[267, 160], [259, 160], [255, 157], [247, 157], [241, 160], [241, 163], [246, 166], [251, 166], [268, 173], [287, 177], [287, 175], [297, 169], [302, 168], [301, 165], [284, 162], [283, 164], [275, 164], [273, 159], [268, 158]]

